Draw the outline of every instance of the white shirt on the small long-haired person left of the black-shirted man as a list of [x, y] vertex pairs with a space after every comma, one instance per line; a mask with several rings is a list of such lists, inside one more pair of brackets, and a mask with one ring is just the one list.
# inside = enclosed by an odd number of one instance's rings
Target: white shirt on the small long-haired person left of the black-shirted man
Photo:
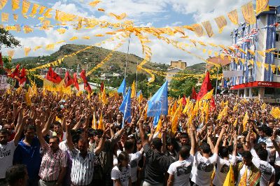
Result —
[[[122, 186], [128, 186], [130, 184], [130, 176], [130, 165], [121, 167], [121, 171], [118, 169], [118, 166], [114, 166], [111, 171], [112, 180], [120, 180]], [[115, 186], [115, 182], [113, 186]]]

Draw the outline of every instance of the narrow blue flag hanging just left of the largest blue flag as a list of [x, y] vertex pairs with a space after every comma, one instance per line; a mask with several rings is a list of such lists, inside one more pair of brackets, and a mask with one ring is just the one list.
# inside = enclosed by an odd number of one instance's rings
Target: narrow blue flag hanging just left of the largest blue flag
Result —
[[125, 99], [123, 99], [123, 103], [120, 105], [120, 112], [123, 113], [123, 127], [125, 126], [125, 122], [131, 122], [131, 88], [128, 90]]

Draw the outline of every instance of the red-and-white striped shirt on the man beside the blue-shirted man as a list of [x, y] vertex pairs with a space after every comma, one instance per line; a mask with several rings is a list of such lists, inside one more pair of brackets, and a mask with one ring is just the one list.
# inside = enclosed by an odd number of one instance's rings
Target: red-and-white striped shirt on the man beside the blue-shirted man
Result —
[[55, 181], [58, 180], [59, 173], [62, 167], [67, 166], [66, 153], [60, 149], [53, 153], [48, 143], [42, 146], [43, 158], [39, 171], [41, 180]]

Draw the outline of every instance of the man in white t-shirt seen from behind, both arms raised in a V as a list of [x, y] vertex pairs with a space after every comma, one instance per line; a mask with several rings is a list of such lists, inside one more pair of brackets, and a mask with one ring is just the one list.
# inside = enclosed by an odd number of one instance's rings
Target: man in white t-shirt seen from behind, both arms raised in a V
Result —
[[[195, 153], [195, 161], [193, 164], [193, 176], [192, 181], [195, 185], [211, 185], [211, 176], [214, 171], [214, 166], [218, 158], [218, 145], [221, 142], [223, 134], [225, 133], [225, 128], [221, 129], [221, 133], [218, 136], [215, 148], [211, 141], [211, 131], [207, 134], [207, 142], [200, 145], [200, 152]], [[210, 157], [210, 152], [213, 152], [213, 155]]]

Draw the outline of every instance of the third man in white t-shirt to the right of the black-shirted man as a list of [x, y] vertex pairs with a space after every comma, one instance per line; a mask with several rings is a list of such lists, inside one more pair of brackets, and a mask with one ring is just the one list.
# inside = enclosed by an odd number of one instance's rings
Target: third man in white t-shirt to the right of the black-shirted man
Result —
[[217, 160], [217, 169], [215, 173], [215, 177], [213, 180], [213, 185], [223, 186], [225, 182], [225, 177], [228, 175], [228, 171], [230, 171], [230, 165], [235, 166], [237, 162], [237, 135], [234, 136], [234, 149], [232, 152], [232, 158], [229, 158], [228, 148], [221, 147], [219, 149], [219, 157]]

